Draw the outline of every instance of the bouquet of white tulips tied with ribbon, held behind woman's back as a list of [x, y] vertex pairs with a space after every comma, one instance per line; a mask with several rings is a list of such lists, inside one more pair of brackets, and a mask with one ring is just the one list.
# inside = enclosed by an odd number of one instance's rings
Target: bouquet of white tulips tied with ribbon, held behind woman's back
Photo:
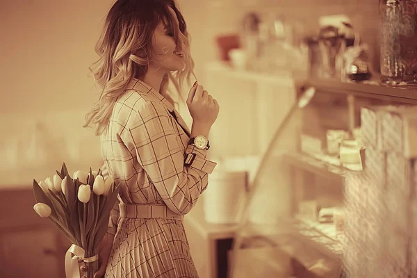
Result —
[[117, 201], [119, 186], [112, 177], [104, 180], [101, 170], [74, 172], [71, 178], [63, 163], [53, 178], [33, 180], [37, 204], [33, 209], [52, 223], [71, 241], [65, 256], [67, 278], [80, 277], [79, 260], [87, 265], [85, 275], [98, 270], [98, 247], [106, 235], [110, 211]]

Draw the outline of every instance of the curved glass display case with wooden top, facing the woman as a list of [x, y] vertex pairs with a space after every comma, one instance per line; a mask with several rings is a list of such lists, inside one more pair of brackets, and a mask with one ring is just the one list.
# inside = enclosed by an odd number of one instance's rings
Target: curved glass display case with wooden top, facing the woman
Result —
[[[344, 277], [343, 232], [334, 213], [331, 221], [318, 215], [343, 208], [345, 175], [361, 167], [328, 152], [327, 131], [343, 129], [352, 140], [361, 107], [417, 104], [416, 91], [379, 85], [310, 80], [297, 88], [298, 99], [306, 88], [315, 94], [291, 108], [264, 152], [235, 232], [230, 277]], [[288, 208], [277, 210], [270, 199]]]

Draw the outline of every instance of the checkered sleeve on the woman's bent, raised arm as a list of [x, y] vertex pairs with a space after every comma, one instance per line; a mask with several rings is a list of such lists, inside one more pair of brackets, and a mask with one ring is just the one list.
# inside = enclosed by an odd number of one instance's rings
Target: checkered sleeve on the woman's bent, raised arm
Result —
[[[131, 115], [121, 138], [136, 154], [167, 207], [183, 215], [206, 189], [216, 163], [206, 160], [206, 150], [194, 146], [189, 145], [184, 154], [171, 120], [162, 104], [144, 101]], [[185, 161], [188, 154], [195, 156], [192, 163]]]

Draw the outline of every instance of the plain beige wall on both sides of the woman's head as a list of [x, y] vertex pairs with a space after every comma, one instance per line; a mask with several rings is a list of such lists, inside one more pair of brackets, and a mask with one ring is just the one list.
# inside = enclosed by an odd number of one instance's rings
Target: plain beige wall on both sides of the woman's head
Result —
[[[308, 26], [305, 33], [316, 32], [320, 15], [347, 13], [363, 33], [363, 40], [377, 42], [377, 3], [370, 0], [178, 2], [193, 38], [195, 72], [202, 85], [205, 63], [218, 57], [215, 35], [238, 31], [241, 17], [251, 9], [275, 11], [289, 21], [300, 20]], [[33, 123], [39, 120], [47, 123], [52, 138], [71, 136], [67, 140], [72, 145], [71, 154], [83, 145], [97, 163], [98, 140], [81, 124], [98, 97], [88, 66], [97, 58], [95, 42], [112, 3], [113, 0], [0, 2], [0, 152], [19, 144], [27, 147]], [[190, 123], [188, 113], [183, 115]], [[15, 144], [17, 141], [19, 144]], [[1, 164], [7, 165], [5, 156], [1, 157]], [[66, 157], [62, 155], [60, 160]]]

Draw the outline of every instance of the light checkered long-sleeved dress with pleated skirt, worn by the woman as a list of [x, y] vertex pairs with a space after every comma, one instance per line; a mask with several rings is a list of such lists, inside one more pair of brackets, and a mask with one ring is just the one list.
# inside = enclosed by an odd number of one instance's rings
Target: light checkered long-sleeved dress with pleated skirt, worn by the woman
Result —
[[[108, 229], [115, 240], [105, 277], [198, 277], [182, 215], [206, 189], [215, 163], [206, 160], [206, 150], [188, 145], [189, 139], [172, 104], [133, 79], [101, 136], [104, 166], [122, 185], [121, 207], [159, 204], [165, 217], [152, 215], [151, 209], [145, 218], [132, 218], [115, 206]], [[186, 155], [192, 153], [195, 160], [185, 166]]]

